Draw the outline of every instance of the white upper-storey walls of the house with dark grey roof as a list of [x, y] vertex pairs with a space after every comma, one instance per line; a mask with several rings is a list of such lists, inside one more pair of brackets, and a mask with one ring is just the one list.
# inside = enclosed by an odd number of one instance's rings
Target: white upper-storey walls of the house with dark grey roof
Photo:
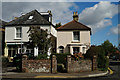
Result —
[[[16, 27], [20, 27], [20, 26], [16, 26]], [[48, 33], [54, 35], [56, 37], [57, 35], [57, 31], [55, 30], [55, 28], [51, 25], [40, 25], [40, 27], [44, 30], [48, 30]], [[15, 39], [15, 34], [16, 34], [16, 30], [15, 30], [15, 26], [9, 26], [9, 27], [5, 27], [5, 42], [21, 42], [20, 39]], [[28, 42], [29, 41], [29, 37], [28, 37], [28, 30], [29, 30], [29, 26], [22, 26], [22, 41], [23, 42]]]

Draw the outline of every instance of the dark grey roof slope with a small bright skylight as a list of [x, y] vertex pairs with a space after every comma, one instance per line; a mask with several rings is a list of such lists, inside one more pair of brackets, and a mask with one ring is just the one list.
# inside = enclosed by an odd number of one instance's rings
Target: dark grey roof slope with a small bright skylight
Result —
[[33, 10], [25, 15], [22, 15], [8, 23], [9, 25], [49, 25], [44, 17], [37, 10]]

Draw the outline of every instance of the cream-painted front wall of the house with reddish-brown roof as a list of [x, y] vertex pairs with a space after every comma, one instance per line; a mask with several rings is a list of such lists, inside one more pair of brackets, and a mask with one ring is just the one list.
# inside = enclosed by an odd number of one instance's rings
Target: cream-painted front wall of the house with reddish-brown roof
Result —
[[[65, 52], [68, 50], [67, 44], [81, 44], [80, 46], [82, 51], [82, 47], [84, 45], [90, 45], [90, 31], [80, 31], [80, 41], [73, 42], [73, 31], [58, 31], [57, 32], [57, 52], [59, 52], [58, 47], [63, 46], [65, 48]], [[69, 52], [69, 51], [67, 51]]]

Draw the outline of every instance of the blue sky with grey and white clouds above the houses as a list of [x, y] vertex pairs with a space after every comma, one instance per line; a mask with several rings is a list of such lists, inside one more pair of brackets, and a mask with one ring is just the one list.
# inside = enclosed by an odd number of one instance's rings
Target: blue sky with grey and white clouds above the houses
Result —
[[77, 11], [79, 22], [92, 29], [91, 45], [109, 40], [118, 46], [118, 2], [2, 2], [2, 20], [11, 21], [34, 9], [39, 12], [51, 10], [53, 24], [61, 22], [62, 25], [72, 21], [73, 12]]

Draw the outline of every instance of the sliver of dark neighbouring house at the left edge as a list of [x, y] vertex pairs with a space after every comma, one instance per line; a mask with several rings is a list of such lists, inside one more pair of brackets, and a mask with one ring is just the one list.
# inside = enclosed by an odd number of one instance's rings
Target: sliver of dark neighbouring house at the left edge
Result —
[[4, 25], [7, 22], [0, 20], [0, 53], [4, 55], [4, 47], [5, 47], [5, 27]]

